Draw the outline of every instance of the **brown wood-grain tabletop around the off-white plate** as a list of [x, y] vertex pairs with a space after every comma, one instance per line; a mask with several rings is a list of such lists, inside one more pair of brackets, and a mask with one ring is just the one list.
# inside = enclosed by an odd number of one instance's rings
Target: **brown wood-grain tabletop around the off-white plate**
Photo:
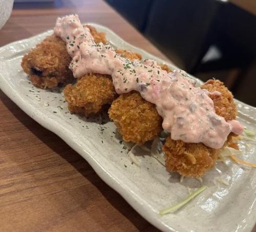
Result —
[[[0, 46], [52, 29], [57, 16], [109, 27], [165, 58], [100, 0], [16, 4]], [[0, 91], [0, 231], [158, 231], [106, 185], [86, 160]], [[254, 229], [254, 231], [256, 231]]]

